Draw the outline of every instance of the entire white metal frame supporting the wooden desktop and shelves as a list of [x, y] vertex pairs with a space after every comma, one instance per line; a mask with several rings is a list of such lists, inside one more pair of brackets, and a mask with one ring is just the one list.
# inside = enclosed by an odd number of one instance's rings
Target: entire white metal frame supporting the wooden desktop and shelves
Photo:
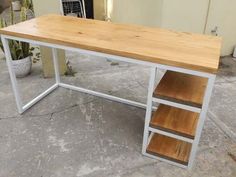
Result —
[[[191, 168], [192, 167], [193, 161], [194, 161], [194, 158], [195, 158], [195, 155], [196, 155], [196, 152], [197, 152], [197, 146], [198, 146], [198, 143], [199, 143], [199, 140], [200, 140], [202, 128], [203, 128], [204, 121], [205, 121], [205, 118], [206, 118], [206, 113], [207, 113], [208, 104], [209, 104], [209, 101], [210, 101], [212, 89], [213, 89], [213, 86], [214, 86], [214, 81], [215, 81], [215, 75], [214, 74], [209, 74], [209, 73], [199, 72], [199, 71], [194, 71], [194, 70], [189, 70], [189, 69], [183, 69], [183, 68], [178, 68], [178, 67], [173, 67], [173, 66], [167, 66], [167, 65], [162, 65], [162, 64], [152, 63], [152, 62], [146, 62], [146, 61], [141, 61], [141, 60], [137, 60], [137, 59], [131, 59], [131, 58], [126, 58], [126, 57], [121, 57], [121, 56], [115, 56], [115, 55], [110, 55], [110, 54], [105, 54], [105, 53], [100, 53], [100, 52], [88, 51], [88, 50], [74, 48], [74, 47], [70, 47], [70, 46], [51, 44], [51, 43], [46, 43], [46, 42], [41, 42], [41, 41], [33, 41], [33, 40], [30, 40], [30, 39], [24, 39], [24, 38], [8, 36], [8, 35], [1, 35], [1, 39], [2, 39], [4, 50], [5, 50], [7, 66], [8, 66], [9, 73], [10, 73], [10, 78], [11, 78], [11, 82], [12, 82], [12, 88], [13, 88], [13, 92], [14, 92], [14, 95], [15, 95], [17, 108], [18, 108], [18, 111], [19, 111], [20, 114], [25, 112], [27, 109], [32, 107], [34, 104], [36, 104], [38, 101], [40, 101], [42, 98], [47, 96], [49, 93], [51, 93], [52, 91], [54, 91], [58, 87], [63, 87], [63, 88], [66, 88], [66, 89], [71, 89], [71, 90], [75, 90], [75, 91], [79, 91], [79, 92], [83, 92], [83, 93], [88, 93], [88, 94], [98, 96], [98, 97], [102, 97], [102, 98], [105, 98], [105, 99], [109, 99], [109, 100], [112, 100], [112, 101], [117, 101], [117, 102], [121, 102], [121, 103], [124, 103], [124, 104], [144, 108], [144, 109], [146, 109], [146, 116], [145, 116], [145, 127], [144, 127], [144, 134], [143, 134], [142, 153], [144, 155], [148, 156], [148, 157], [155, 158], [155, 159], [158, 159], [158, 160], [162, 160], [164, 162], [167, 162], [167, 163], [170, 163], [170, 164], [182, 167], [182, 168]], [[19, 92], [16, 76], [15, 76], [15, 73], [12, 69], [12, 57], [11, 57], [10, 49], [9, 49], [9, 45], [8, 45], [8, 40], [9, 39], [10, 40], [28, 42], [28, 43], [35, 44], [35, 45], [41, 45], [41, 46], [46, 46], [46, 47], [52, 48], [56, 83], [53, 86], [51, 86], [49, 89], [47, 89], [46, 91], [41, 93], [39, 96], [37, 96], [36, 98], [31, 100], [26, 105], [22, 104], [21, 95], [20, 95], [20, 92]], [[116, 96], [112, 96], [112, 95], [108, 95], [108, 94], [104, 94], [104, 93], [100, 93], [100, 92], [96, 92], [96, 91], [84, 89], [84, 88], [81, 88], [81, 87], [77, 87], [77, 86], [62, 83], [60, 81], [60, 75], [59, 75], [58, 60], [57, 60], [57, 57], [58, 57], [57, 56], [57, 49], [76, 51], [76, 52], [80, 52], [80, 53], [83, 53], [83, 54], [101, 56], [101, 57], [106, 57], [106, 58], [110, 58], [110, 59], [117, 60], [117, 61], [125, 61], [125, 62], [141, 64], [141, 65], [151, 67], [147, 104], [143, 104], [143, 103], [139, 103], [139, 102], [119, 98], [119, 97], [116, 97]], [[208, 84], [207, 84], [207, 88], [206, 88], [202, 108], [195, 108], [195, 107], [187, 106], [187, 105], [184, 105], [184, 104], [177, 104], [177, 103], [169, 102], [169, 101], [166, 101], [166, 100], [153, 98], [153, 90], [154, 90], [154, 87], [155, 87], [155, 79], [156, 79], [157, 69], [171, 70], [171, 71], [176, 71], [176, 72], [181, 72], [181, 73], [185, 73], [185, 74], [196, 75], [196, 76], [208, 78]], [[164, 131], [155, 130], [153, 128], [150, 128], [149, 123], [150, 123], [150, 119], [151, 119], [151, 113], [152, 113], [152, 110], [155, 109], [155, 107], [153, 106], [153, 102], [167, 104], [167, 105], [170, 105], [170, 106], [174, 106], [174, 107], [178, 107], [178, 108], [181, 108], [181, 109], [186, 109], [186, 110], [190, 110], [190, 111], [193, 111], [193, 112], [200, 113], [200, 118], [199, 118], [199, 122], [198, 122], [198, 125], [197, 125], [197, 133], [196, 133], [195, 139], [191, 140], [191, 139], [181, 137], [181, 136], [178, 136], [178, 135], [175, 135], [175, 134], [171, 134], [171, 133], [167, 133], [167, 132], [164, 132]], [[166, 159], [163, 159], [163, 158], [159, 158], [159, 157], [156, 157], [156, 156], [153, 156], [153, 155], [150, 155], [150, 154], [146, 153], [146, 148], [147, 148], [147, 145], [148, 145], [149, 139], [150, 139], [149, 132], [152, 132], [152, 134], [153, 133], [160, 133], [160, 134], [163, 134], [163, 135], [166, 135], [166, 136], [170, 136], [170, 137], [173, 137], [173, 138], [176, 138], [176, 139], [180, 139], [180, 140], [192, 143], [192, 150], [191, 150], [191, 155], [190, 155], [188, 166], [185, 166], [185, 165], [182, 165], [182, 164], [179, 164], [179, 163], [176, 163], [176, 162], [172, 162], [172, 161], [169, 161], [169, 160], [166, 160]]]

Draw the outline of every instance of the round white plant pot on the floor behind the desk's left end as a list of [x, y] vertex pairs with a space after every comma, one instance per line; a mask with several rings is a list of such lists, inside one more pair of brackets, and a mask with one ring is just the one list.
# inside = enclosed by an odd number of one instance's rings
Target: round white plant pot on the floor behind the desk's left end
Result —
[[15, 71], [16, 77], [21, 78], [27, 76], [32, 68], [31, 57], [26, 57], [21, 60], [13, 60], [12, 67]]

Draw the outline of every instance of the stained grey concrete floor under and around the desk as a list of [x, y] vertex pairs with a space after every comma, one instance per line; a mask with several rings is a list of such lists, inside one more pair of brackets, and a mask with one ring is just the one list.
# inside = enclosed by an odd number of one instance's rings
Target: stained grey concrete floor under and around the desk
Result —
[[[0, 57], [1, 58], [1, 57]], [[67, 52], [65, 83], [146, 102], [149, 68]], [[159, 72], [161, 77], [163, 72]], [[24, 103], [53, 84], [40, 62], [18, 79]], [[236, 61], [222, 58], [191, 170], [142, 156], [145, 110], [59, 88], [22, 115], [0, 60], [0, 177], [235, 177]]]

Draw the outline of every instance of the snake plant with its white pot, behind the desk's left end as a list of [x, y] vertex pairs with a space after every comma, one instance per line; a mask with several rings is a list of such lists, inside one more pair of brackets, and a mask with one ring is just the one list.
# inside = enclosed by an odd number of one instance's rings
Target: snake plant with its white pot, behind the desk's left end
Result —
[[[10, 25], [14, 24], [14, 11], [11, 7], [10, 11]], [[26, 8], [22, 7], [21, 8], [21, 15], [20, 15], [21, 21], [27, 20], [27, 15], [26, 15]], [[8, 24], [6, 20], [1, 19], [0, 20], [0, 28], [7, 27]], [[2, 42], [0, 41], [0, 48], [3, 50], [3, 45]], [[33, 59], [38, 60], [39, 58], [39, 53], [36, 53], [36, 55], [33, 55], [33, 51], [35, 50], [34, 47], [30, 47], [29, 43], [26, 42], [20, 42], [20, 41], [15, 41], [15, 40], [9, 40], [9, 48], [11, 52], [11, 57], [12, 57], [12, 67], [13, 70], [15, 71], [16, 77], [25, 77], [31, 72], [31, 67], [32, 67], [32, 56], [35, 58]]]

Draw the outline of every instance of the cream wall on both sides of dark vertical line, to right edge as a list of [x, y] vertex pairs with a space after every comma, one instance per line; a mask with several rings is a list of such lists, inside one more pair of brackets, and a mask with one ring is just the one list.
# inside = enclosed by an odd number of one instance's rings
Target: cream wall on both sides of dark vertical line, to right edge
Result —
[[230, 55], [236, 45], [235, 8], [235, 0], [164, 0], [161, 26], [209, 35], [217, 26], [223, 38], [221, 55]]

